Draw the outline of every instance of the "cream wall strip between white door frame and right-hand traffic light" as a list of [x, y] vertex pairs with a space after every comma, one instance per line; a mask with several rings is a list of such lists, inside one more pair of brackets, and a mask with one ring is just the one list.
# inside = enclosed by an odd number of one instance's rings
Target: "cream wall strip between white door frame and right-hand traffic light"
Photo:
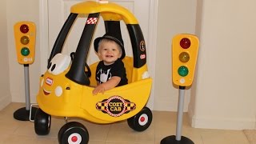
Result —
[[[156, 71], [154, 110], [176, 111], [178, 88], [172, 85], [171, 40], [176, 34], [194, 34], [196, 0], [158, 1], [158, 38], [156, 48]], [[190, 90], [186, 90], [184, 110], [190, 102]]]

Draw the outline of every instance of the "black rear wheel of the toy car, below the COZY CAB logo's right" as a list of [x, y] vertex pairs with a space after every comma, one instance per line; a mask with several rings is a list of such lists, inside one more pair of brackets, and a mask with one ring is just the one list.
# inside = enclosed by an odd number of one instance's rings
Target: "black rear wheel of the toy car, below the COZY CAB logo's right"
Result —
[[138, 114], [127, 119], [131, 129], [136, 131], [146, 130], [152, 122], [152, 112], [149, 108], [144, 107]]

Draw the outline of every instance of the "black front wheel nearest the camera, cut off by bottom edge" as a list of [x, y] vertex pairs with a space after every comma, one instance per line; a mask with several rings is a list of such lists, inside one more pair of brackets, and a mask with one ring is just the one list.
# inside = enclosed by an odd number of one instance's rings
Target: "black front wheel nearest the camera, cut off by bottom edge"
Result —
[[58, 131], [59, 144], [87, 144], [88, 130], [79, 122], [68, 122]]

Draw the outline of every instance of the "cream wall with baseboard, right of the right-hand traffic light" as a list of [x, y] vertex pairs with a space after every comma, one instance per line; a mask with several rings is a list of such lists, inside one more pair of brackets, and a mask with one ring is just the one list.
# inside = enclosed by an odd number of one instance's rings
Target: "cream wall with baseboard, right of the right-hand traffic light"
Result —
[[[255, 129], [256, 1], [200, 1], [202, 18], [192, 126]], [[198, 14], [200, 15], [200, 14]]]

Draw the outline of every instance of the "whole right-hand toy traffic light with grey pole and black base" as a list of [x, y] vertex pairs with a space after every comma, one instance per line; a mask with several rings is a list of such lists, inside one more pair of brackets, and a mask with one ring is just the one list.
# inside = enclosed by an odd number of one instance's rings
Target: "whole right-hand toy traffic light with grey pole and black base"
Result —
[[172, 77], [179, 86], [176, 136], [163, 138], [161, 144], [194, 144], [190, 138], [182, 136], [182, 119], [186, 86], [191, 86], [198, 58], [198, 38], [191, 34], [178, 34], [172, 42]]

